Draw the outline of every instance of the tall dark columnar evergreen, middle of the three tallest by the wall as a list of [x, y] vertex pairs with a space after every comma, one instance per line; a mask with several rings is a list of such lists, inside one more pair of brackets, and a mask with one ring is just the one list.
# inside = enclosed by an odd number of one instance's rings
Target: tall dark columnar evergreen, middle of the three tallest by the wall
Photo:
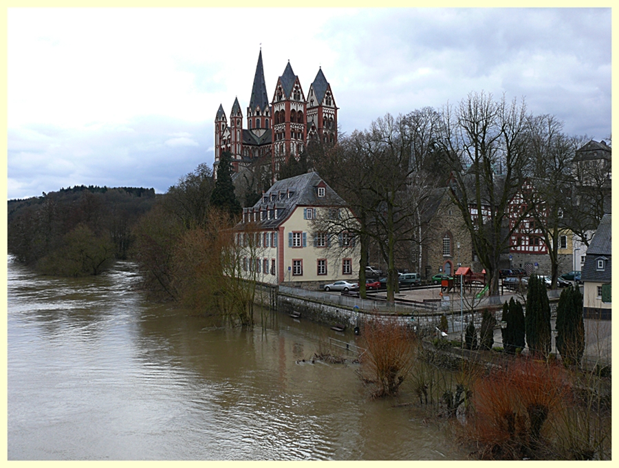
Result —
[[525, 331], [532, 354], [542, 357], [550, 354], [550, 302], [543, 280], [535, 275], [529, 278]]

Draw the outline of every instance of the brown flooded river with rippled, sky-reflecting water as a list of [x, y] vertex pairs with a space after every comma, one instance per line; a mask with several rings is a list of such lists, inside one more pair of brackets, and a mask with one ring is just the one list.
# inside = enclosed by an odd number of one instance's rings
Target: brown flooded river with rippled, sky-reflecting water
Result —
[[66, 279], [9, 257], [9, 460], [466, 458], [397, 406], [411, 395], [371, 400], [358, 365], [298, 362], [354, 336], [278, 312], [265, 329], [217, 328], [137, 281], [130, 263]]

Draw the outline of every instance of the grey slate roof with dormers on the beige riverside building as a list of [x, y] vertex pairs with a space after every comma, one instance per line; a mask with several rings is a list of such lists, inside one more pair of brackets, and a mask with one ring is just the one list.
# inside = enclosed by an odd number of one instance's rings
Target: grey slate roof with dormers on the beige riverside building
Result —
[[[318, 184], [324, 182], [317, 172], [308, 172], [283, 180], [278, 180], [264, 193], [259, 202], [244, 212], [260, 209], [278, 209], [277, 219], [262, 220], [261, 228], [276, 228], [290, 216], [296, 206], [344, 206], [346, 203], [331, 187], [325, 183], [325, 196], [318, 197]], [[287, 193], [291, 193], [287, 198]], [[240, 226], [238, 224], [237, 226]]]

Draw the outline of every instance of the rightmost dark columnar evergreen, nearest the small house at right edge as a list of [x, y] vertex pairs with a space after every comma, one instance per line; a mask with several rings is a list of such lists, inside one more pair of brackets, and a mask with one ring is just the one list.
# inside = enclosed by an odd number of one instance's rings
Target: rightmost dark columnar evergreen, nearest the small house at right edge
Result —
[[583, 295], [572, 286], [561, 292], [556, 307], [556, 330], [556, 348], [563, 361], [567, 364], [579, 363], [585, 351]]

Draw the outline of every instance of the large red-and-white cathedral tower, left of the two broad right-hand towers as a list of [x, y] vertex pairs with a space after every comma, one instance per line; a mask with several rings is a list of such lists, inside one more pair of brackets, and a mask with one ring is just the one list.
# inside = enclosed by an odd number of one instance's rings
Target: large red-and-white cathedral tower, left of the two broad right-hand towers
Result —
[[277, 80], [272, 100], [274, 174], [279, 173], [280, 162], [290, 156], [298, 158], [305, 148], [306, 106], [301, 82], [288, 62]]

